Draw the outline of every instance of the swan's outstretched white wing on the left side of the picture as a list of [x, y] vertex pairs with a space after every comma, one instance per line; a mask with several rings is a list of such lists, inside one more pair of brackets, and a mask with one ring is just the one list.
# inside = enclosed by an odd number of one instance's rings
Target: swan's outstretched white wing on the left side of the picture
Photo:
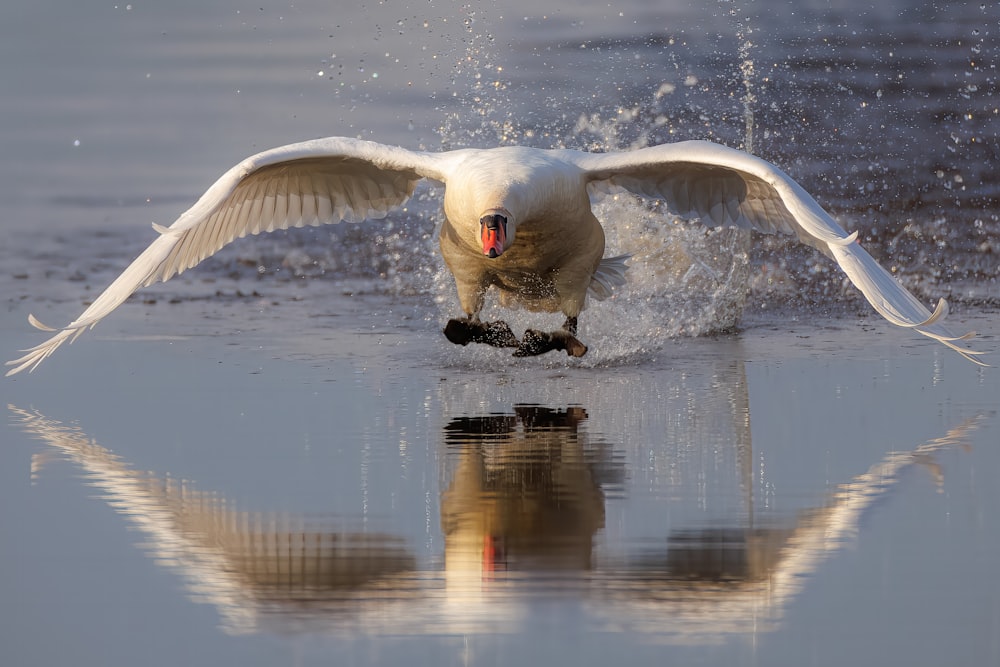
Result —
[[282, 146], [243, 160], [223, 174], [133, 261], [79, 318], [28, 350], [7, 375], [34, 369], [64, 342], [117, 308], [133, 292], [189, 269], [247, 234], [382, 218], [413, 193], [421, 178], [445, 180], [447, 154], [408, 151], [342, 137]]

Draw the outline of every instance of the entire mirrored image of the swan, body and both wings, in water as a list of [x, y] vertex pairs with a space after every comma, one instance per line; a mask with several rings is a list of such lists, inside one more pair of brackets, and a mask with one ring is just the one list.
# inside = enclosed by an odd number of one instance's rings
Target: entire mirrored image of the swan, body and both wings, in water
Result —
[[[444, 427], [442, 567], [440, 557], [421, 562], [399, 535], [240, 511], [190, 483], [136, 471], [75, 426], [10, 410], [85, 471], [227, 632], [514, 632], [531, 622], [533, 601], [558, 595], [578, 601], [595, 630], [685, 642], [776, 628], [808, 575], [857, 533], [900, 473], [933, 469], [932, 456], [963, 443], [979, 421], [886, 455], [784, 525], [692, 526], [660, 547], [629, 554], [624, 545], [624, 556], [599, 558], [606, 496], [623, 492], [626, 467], [580, 428], [586, 411], [515, 406], [458, 417]], [[36, 454], [32, 474], [41, 461]]]

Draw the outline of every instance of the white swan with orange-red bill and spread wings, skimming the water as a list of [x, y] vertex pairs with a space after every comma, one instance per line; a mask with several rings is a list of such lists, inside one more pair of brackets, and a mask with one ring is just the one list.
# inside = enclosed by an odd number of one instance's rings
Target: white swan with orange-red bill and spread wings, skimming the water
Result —
[[[624, 189], [661, 200], [681, 216], [795, 234], [832, 257], [869, 303], [893, 324], [941, 341], [966, 359], [979, 352], [957, 344], [941, 324], [944, 299], [932, 313], [904, 289], [797, 183], [774, 165], [705, 141], [623, 153], [501, 147], [443, 153], [410, 151], [331, 137], [282, 146], [247, 158], [215, 182], [88, 307], [7, 375], [34, 369], [66, 341], [93, 327], [140, 287], [168, 280], [246, 234], [385, 217], [422, 179], [445, 185], [441, 252], [455, 277], [465, 317], [445, 328], [452, 342], [516, 347], [516, 355], [564, 349], [580, 356], [577, 317], [588, 293], [608, 296], [624, 282], [627, 256], [604, 258], [604, 231], [588, 190]], [[562, 311], [562, 329], [528, 331], [518, 341], [503, 322], [483, 323], [490, 286], [502, 303]], [[56, 331], [34, 316], [29, 321]]]

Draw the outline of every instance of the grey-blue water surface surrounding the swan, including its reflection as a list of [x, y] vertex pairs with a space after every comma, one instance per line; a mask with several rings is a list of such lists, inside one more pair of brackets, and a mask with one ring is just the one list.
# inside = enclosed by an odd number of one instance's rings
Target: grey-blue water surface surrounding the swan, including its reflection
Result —
[[[992, 4], [202, 4], [0, 10], [5, 358], [332, 134], [749, 144], [997, 347]], [[585, 363], [454, 349], [435, 194], [238, 244], [0, 383], [0, 662], [1000, 662], [995, 369], [776, 239], [742, 333], [691, 338], [726, 290], [670, 267], [719, 239], [632, 202]]]

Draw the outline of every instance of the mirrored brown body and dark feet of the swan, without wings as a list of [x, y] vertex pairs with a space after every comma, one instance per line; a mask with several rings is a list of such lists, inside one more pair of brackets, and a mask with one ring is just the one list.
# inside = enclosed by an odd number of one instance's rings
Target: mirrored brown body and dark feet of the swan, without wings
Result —
[[[604, 527], [604, 485], [621, 486], [624, 461], [591, 444], [583, 408], [515, 406], [513, 415], [458, 417], [444, 429], [457, 457], [441, 494], [445, 571], [475, 587], [500, 571], [581, 571], [593, 566]], [[469, 577], [471, 576], [471, 579]]]

